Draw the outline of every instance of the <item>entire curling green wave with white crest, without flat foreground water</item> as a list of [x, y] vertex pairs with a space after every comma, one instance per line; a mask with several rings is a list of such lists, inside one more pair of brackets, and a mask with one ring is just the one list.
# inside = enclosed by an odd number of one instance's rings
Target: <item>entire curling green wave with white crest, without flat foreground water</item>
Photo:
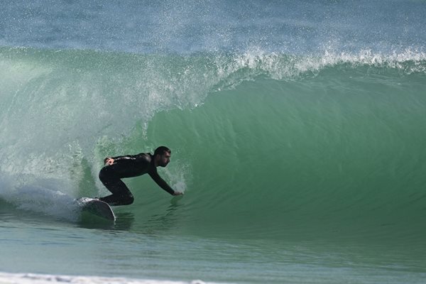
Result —
[[[121, 53], [0, 48], [0, 198], [77, 220], [106, 156], [173, 150], [126, 182], [139, 228], [376, 241], [425, 235], [426, 54]], [[148, 222], [149, 223], [149, 222]], [[150, 223], [150, 224], [151, 224]]]

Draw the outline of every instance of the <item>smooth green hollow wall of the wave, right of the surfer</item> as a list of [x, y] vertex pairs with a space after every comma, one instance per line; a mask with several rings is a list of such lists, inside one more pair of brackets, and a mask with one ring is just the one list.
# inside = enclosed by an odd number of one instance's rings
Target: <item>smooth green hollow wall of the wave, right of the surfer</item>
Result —
[[422, 243], [424, 83], [328, 79], [250, 82], [151, 121], [154, 143], [186, 146], [176, 155], [190, 161], [188, 226]]

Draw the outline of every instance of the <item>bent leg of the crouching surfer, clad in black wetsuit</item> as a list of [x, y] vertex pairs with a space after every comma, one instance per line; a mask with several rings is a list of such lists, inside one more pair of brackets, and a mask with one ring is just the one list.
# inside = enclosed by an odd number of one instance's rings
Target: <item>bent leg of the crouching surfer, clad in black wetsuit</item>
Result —
[[111, 175], [111, 173], [107, 173], [106, 168], [102, 168], [99, 172], [99, 180], [102, 181], [112, 195], [101, 197], [99, 200], [107, 202], [111, 206], [132, 204], [134, 198], [129, 188], [122, 180]]

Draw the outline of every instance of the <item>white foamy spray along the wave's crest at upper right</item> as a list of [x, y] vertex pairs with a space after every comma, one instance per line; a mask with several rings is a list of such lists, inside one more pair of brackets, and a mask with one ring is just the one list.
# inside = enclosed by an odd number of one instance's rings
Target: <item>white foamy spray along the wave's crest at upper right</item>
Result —
[[[261, 48], [251, 48], [243, 55], [236, 55], [234, 63], [228, 62], [221, 72], [229, 77], [231, 73], [246, 68], [251, 70], [249, 74], [251, 77], [263, 74], [275, 80], [283, 80], [297, 78], [307, 72], [317, 73], [324, 67], [346, 64], [352, 67], [361, 65], [388, 67], [410, 74], [426, 72], [425, 60], [425, 52], [410, 48], [393, 53], [379, 53], [368, 49], [360, 50], [358, 53], [324, 50], [323, 53], [303, 56], [267, 53]], [[244, 79], [247, 78], [239, 78]]]

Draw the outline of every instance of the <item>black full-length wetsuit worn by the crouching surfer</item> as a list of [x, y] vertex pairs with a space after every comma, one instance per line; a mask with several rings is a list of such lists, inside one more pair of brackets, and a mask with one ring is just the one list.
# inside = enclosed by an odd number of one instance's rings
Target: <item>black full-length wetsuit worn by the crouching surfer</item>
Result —
[[175, 191], [157, 173], [154, 156], [150, 153], [123, 155], [115, 157], [112, 165], [107, 165], [99, 172], [99, 179], [112, 192], [112, 195], [99, 200], [109, 205], [127, 205], [133, 203], [133, 195], [121, 178], [133, 178], [148, 173], [163, 190], [173, 195]]

